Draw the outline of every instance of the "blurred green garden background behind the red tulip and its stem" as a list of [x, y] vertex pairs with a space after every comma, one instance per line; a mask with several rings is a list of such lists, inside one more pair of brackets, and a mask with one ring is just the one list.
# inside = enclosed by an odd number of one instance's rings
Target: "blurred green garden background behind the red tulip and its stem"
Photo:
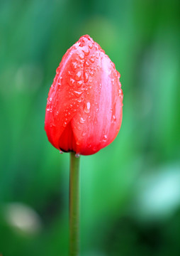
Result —
[[81, 157], [81, 255], [180, 255], [180, 1], [0, 1], [0, 255], [66, 256], [69, 154], [44, 131], [67, 48], [121, 74], [116, 140]]

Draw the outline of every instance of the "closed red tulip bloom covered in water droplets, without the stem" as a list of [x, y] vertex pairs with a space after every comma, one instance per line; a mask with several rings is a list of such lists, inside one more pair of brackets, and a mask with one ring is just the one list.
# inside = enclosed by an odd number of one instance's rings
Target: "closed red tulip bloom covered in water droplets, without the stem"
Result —
[[47, 98], [45, 131], [61, 151], [94, 154], [122, 121], [120, 74], [98, 43], [81, 36], [64, 54]]

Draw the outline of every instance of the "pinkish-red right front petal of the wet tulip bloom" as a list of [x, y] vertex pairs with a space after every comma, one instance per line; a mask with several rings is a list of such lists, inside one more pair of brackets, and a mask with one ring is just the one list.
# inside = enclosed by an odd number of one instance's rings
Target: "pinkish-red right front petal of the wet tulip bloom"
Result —
[[84, 68], [89, 82], [83, 105], [79, 114], [72, 118], [74, 137], [79, 142], [77, 151], [84, 155], [94, 154], [110, 144], [122, 121], [123, 94], [119, 74], [107, 55], [99, 51], [94, 55], [94, 62]]

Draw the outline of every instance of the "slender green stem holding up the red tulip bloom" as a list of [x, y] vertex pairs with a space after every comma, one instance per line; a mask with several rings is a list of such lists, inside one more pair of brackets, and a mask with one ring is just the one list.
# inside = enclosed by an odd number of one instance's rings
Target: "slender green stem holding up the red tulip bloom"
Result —
[[70, 153], [69, 256], [79, 255], [79, 158]]

